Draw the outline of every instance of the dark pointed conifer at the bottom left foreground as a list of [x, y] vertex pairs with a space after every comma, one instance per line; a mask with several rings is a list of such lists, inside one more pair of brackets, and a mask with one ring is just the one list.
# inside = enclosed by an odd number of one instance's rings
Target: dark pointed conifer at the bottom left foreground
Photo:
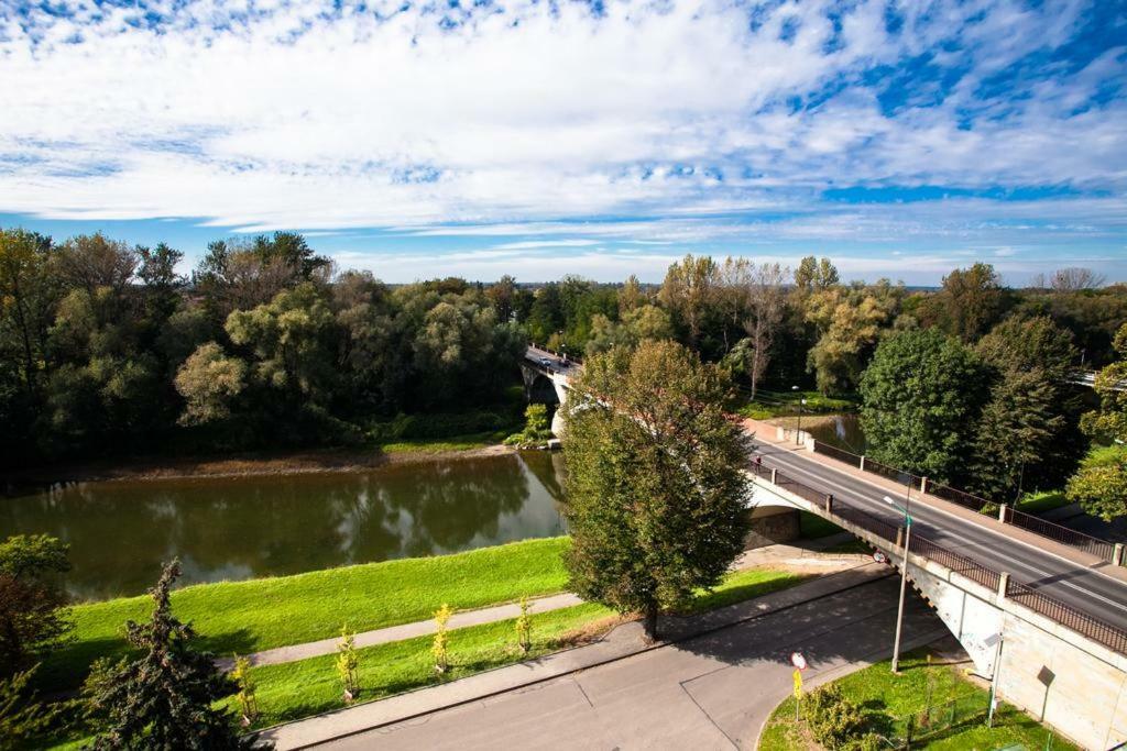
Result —
[[264, 749], [255, 737], [240, 737], [233, 717], [214, 708], [238, 685], [222, 674], [214, 658], [197, 651], [195, 631], [172, 615], [169, 594], [180, 575], [179, 561], [165, 566], [150, 590], [154, 608], [149, 623], [128, 622], [125, 638], [141, 656], [123, 661], [94, 697], [108, 718], [95, 749]]

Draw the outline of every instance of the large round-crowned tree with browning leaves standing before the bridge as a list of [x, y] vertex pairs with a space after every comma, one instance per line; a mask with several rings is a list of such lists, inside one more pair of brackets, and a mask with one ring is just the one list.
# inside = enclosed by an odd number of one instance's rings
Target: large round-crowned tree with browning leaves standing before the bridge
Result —
[[567, 403], [570, 587], [645, 614], [650, 637], [659, 609], [715, 585], [743, 549], [747, 446], [727, 393], [716, 367], [647, 341], [591, 358]]

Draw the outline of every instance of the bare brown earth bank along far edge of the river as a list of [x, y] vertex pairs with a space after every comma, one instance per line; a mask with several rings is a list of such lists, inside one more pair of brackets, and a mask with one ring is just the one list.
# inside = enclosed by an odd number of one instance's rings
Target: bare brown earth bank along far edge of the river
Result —
[[365, 448], [91, 461], [17, 471], [9, 473], [8, 482], [15, 485], [36, 485], [59, 482], [362, 472], [391, 464], [472, 459], [514, 453], [516, 449], [500, 442], [504, 437], [505, 435], [488, 432], [441, 439], [398, 440]]

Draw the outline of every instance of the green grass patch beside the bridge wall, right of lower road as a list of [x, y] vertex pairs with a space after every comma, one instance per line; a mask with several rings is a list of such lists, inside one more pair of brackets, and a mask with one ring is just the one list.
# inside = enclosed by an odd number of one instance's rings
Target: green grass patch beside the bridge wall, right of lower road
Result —
[[[1021, 744], [1027, 749], [1045, 749], [1049, 731], [1024, 713], [1002, 704], [994, 717], [994, 727], [986, 727], [985, 709], [990, 695], [966, 679], [958, 667], [941, 661], [929, 663], [926, 652], [916, 650], [900, 660], [900, 674], [894, 676], [888, 661], [859, 670], [834, 681], [846, 697], [860, 704], [873, 732], [882, 735], [902, 733], [906, 718], [922, 715], [929, 696], [933, 718], [950, 717], [950, 701], [957, 700], [957, 721], [946, 730], [917, 731], [914, 749], [935, 751], [973, 751], [1001, 749]], [[933, 719], [933, 727], [946, 722]], [[919, 725], [919, 723], [917, 723]], [[816, 748], [801, 725], [795, 724], [795, 698], [790, 697], [771, 714], [761, 751], [795, 751]], [[1071, 743], [1054, 737], [1051, 749], [1074, 749]]]

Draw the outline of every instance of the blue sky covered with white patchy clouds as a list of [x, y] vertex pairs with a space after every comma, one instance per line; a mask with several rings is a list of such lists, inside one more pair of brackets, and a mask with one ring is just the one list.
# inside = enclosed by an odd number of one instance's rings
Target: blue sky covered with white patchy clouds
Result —
[[0, 226], [390, 281], [1127, 280], [1127, 3], [0, 0]]

